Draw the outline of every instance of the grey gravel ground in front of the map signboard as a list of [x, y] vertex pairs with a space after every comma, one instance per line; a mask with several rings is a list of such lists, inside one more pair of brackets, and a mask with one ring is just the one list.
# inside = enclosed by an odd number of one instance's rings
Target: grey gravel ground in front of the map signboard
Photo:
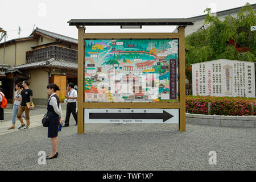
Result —
[[[175, 124], [90, 123], [77, 135], [71, 126], [59, 133], [59, 156], [39, 165], [39, 151], [51, 153], [42, 125], [0, 135], [1, 170], [255, 170], [256, 129]], [[2, 123], [0, 123], [0, 126]], [[217, 164], [210, 165], [209, 151]]]

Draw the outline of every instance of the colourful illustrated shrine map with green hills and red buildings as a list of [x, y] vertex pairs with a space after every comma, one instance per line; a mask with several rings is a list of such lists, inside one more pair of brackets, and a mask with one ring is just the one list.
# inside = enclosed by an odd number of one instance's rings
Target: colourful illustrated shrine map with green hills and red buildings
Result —
[[178, 102], [178, 40], [85, 40], [85, 102]]

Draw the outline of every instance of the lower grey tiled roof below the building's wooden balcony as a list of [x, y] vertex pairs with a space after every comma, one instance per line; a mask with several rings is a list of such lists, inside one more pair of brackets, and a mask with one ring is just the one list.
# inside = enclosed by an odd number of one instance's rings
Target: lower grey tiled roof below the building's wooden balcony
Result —
[[36, 67], [60, 67], [60, 68], [77, 69], [77, 63], [71, 63], [69, 61], [63, 61], [63, 60], [55, 60], [54, 58], [52, 58], [47, 61], [40, 61], [36, 63], [18, 65], [12, 69], [36, 68]]

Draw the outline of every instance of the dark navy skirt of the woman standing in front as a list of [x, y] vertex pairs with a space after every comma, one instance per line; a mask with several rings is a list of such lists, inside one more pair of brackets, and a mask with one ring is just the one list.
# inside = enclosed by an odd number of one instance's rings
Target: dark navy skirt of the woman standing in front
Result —
[[48, 138], [58, 137], [60, 117], [56, 113], [49, 113]]

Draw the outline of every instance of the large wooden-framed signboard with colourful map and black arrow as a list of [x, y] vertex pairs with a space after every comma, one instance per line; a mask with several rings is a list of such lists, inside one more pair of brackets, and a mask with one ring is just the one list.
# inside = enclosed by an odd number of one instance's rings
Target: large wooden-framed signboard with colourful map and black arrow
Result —
[[184, 28], [86, 34], [78, 27], [78, 133], [84, 133], [85, 122], [118, 119], [179, 123], [185, 131]]

